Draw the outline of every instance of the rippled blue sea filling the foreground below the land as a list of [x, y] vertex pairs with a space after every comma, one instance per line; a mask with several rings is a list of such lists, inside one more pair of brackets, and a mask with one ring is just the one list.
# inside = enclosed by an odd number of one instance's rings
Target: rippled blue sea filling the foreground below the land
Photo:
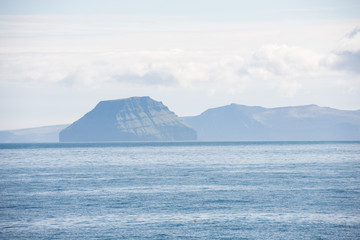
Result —
[[360, 239], [360, 142], [0, 144], [0, 239]]

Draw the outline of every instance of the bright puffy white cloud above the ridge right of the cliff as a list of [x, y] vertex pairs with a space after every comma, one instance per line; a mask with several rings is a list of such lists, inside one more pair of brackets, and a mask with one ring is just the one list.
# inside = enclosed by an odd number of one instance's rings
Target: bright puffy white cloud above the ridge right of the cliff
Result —
[[238, 74], [248, 79], [250, 87], [266, 86], [284, 97], [293, 98], [316, 85], [315, 77], [326, 74], [327, 70], [321, 65], [323, 57], [301, 47], [265, 45], [245, 59]]

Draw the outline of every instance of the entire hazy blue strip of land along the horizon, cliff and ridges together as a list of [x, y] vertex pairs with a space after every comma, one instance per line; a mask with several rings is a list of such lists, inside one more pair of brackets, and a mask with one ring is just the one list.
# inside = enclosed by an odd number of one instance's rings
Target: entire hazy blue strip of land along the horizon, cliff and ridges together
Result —
[[70, 125], [0, 131], [0, 142], [360, 141], [360, 110], [230, 104], [178, 117], [150, 97], [101, 101]]

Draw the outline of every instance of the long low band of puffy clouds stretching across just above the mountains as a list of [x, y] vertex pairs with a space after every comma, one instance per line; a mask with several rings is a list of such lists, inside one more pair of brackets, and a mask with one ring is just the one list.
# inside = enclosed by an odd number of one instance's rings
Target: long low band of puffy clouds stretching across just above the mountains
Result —
[[341, 69], [338, 76], [347, 79], [347, 72], [356, 71], [360, 59], [357, 52], [337, 54], [333, 58], [324, 64], [326, 54], [288, 45], [265, 45], [248, 56], [180, 49], [8, 53], [0, 58], [0, 84], [78, 89], [143, 86], [149, 90], [162, 87], [212, 95], [216, 92], [236, 95], [260, 87], [295, 97], [326, 81], [329, 84], [336, 76], [335, 68]]

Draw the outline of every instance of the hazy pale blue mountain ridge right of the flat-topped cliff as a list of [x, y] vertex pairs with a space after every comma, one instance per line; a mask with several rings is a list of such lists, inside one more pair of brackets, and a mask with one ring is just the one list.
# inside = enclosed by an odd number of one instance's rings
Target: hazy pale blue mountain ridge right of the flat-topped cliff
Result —
[[183, 118], [202, 141], [360, 140], [360, 111], [229, 104]]

